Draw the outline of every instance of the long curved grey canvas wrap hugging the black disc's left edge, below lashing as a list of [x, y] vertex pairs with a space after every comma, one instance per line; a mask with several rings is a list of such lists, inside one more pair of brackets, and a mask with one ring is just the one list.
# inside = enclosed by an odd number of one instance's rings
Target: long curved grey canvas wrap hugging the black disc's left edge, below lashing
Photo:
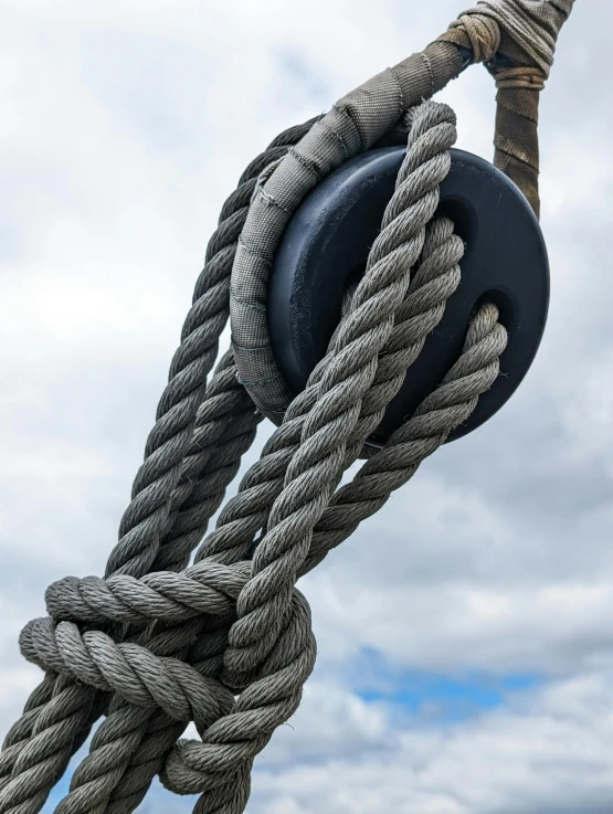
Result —
[[241, 234], [230, 292], [232, 345], [242, 383], [257, 408], [279, 424], [293, 393], [278, 369], [268, 334], [269, 268], [293, 213], [344, 161], [368, 150], [410, 107], [459, 74], [462, 56], [435, 42], [341, 98], [302, 141], [263, 173]]

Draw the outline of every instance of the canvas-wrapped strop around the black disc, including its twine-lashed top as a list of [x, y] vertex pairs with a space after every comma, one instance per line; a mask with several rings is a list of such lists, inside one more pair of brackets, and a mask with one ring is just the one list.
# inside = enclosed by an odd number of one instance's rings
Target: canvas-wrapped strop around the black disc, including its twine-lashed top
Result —
[[485, 62], [497, 85], [495, 163], [539, 214], [539, 91], [573, 0], [482, 0], [423, 52], [341, 98], [256, 187], [232, 269], [232, 341], [242, 382], [258, 409], [279, 423], [295, 395], [271, 345], [269, 266], [299, 203], [326, 175], [369, 149], [403, 114], [455, 78], [458, 46]]

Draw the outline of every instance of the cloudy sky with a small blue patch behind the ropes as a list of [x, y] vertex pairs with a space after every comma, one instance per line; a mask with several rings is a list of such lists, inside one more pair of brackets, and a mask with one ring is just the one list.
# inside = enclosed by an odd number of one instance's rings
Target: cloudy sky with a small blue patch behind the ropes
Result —
[[[0, 734], [40, 679], [17, 639], [45, 586], [104, 571], [243, 168], [462, 10], [0, 0]], [[318, 662], [250, 814], [613, 810], [612, 25], [577, 0], [542, 94], [539, 355], [300, 581]], [[438, 98], [490, 158], [487, 72]], [[156, 783], [139, 812], [192, 804]]]

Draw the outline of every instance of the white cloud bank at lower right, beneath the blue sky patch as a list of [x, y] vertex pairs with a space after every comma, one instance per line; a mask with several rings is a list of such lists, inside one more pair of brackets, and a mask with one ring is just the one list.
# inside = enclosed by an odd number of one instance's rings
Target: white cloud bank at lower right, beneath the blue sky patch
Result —
[[[611, 709], [611, 677], [586, 674], [518, 694], [503, 709], [445, 728], [398, 732], [390, 716], [379, 752], [366, 746], [361, 755], [313, 765], [299, 758], [296, 764], [293, 751], [283, 773], [267, 770], [262, 761], [252, 811], [604, 811], [600, 806], [613, 791]], [[288, 743], [289, 752], [299, 727], [276, 737]]]

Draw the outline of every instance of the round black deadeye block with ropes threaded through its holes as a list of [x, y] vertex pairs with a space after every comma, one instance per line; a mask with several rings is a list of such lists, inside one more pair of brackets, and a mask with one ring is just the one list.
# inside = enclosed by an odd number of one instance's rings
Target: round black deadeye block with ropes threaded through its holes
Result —
[[[313, 190], [285, 230], [268, 283], [267, 311], [279, 369], [296, 393], [326, 352], [340, 320], [346, 286], [364, 271], [404, 152], [402, 147], [382, 148], [347, 161]], [[450, 440], [483, 424], [510, 398], [545, 329], [547, 250], [538, 221], [515, 183], [484, 159], [452, 150], [440, 213], [454, 221], [466, 243], [462, 281], [370, 440], [378, 445], [444, 379], [459, 357], [468, 320], [483, 302], [499, 308], [509, 335], [501, 376]]]

